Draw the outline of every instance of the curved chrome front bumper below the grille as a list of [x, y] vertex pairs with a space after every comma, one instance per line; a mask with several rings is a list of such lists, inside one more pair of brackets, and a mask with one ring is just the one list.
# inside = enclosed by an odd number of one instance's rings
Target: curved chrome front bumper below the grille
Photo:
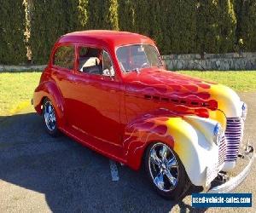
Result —
[[207, 193], [228, 193], [235, 189], [236, 187], [238, 187], [241, 184], [241, 182], [247, 178], [253, 165], [254, 148], [252, 146], [247, 146], [245, 153], [243, 153], [240, 158], [249, 159], [249, 163], [244, 168], [244, 170], [242, 170], [239, 175], [235, 177], [230, 177], [229, 181], [226, 181], [221, 185], [218, 185], [217, 187], [210, 188]]

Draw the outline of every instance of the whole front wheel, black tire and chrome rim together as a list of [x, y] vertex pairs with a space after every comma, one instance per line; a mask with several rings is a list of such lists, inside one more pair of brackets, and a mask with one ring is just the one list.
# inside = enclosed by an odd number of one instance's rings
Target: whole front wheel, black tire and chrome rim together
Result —
[[145, 155], [148, 178], [166, 199], [180, 199], [189, 189], [190, 181], [177, 154], [166, 144], [150, 145]]

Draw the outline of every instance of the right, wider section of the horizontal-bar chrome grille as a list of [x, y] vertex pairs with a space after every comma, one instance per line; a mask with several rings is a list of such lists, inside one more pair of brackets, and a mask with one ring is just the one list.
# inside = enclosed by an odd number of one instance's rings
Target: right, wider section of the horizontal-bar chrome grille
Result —
[[227, 118], [226, 157], [225, 161], [234, 161], [237, 158], [238, 150], [243, 135], [243, 120], [241, 118]]

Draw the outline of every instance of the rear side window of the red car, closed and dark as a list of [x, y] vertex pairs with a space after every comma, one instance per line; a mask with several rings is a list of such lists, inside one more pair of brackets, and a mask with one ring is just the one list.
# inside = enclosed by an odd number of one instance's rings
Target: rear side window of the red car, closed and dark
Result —
[[71, 46], [61, 46], [55, 52], [54, 65], [69, 70], [73, 69], [74, 48]]

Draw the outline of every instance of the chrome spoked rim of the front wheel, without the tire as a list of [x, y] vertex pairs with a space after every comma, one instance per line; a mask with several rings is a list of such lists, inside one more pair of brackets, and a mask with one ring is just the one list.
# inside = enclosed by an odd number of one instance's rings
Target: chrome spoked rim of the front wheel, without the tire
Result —
[[177, 159], [170, 147], [156, 143], [149, 151], [148, 166], [154, 185], [163, 192], [170, 192], [177, 187]]

